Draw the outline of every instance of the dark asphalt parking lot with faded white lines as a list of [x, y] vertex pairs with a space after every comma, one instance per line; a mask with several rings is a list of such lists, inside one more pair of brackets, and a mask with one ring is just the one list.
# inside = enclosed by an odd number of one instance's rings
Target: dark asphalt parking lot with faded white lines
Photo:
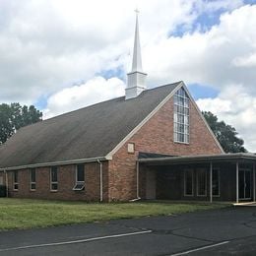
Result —
[[0, 255], [256, 255], [256, 207], [0, 232]]

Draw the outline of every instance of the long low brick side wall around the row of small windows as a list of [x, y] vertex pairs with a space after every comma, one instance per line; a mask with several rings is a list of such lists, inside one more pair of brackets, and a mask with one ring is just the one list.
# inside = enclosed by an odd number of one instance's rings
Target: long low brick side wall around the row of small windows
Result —
[[[103, 166], [103, 197], [107, 199], [107, 167]], [[73, 191], [76, 183], [76, 165], [58, 166], [58, 190], [50, 190], [50, 167], [35, 168], [36, 189], [30, 190], [29, 169], [18, 171], [19, 189], [13, 189], [13, 171], [8, 172], [8, 186], [10, 197], [59, 199], [59, 200], [84, 200], [99, 201], [99, 164], [98, 162], [85, 164], [85, 190]]]

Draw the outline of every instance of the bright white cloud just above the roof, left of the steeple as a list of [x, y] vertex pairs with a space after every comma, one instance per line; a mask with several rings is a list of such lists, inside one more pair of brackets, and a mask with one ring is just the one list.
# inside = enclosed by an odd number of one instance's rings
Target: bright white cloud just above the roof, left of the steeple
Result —
[[105, 80], [96, 77], [85, 84], [65, 88], [50, 96], [43, 117], [50, 118], [112, 97], [124, 96], [124, 89], [123, 81], [117, 78]]

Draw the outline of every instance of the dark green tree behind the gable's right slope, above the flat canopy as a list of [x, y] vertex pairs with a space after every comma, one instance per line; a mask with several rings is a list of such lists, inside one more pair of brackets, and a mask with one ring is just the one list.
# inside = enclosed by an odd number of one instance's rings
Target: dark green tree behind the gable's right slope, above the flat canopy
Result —
[[225, 153], [247, 152], [243, 147], [243, 140], [237, 137], [238, 133], [231, 125], [225, 124], [224, 121], [218, 121], [218, 117], [210, 111], [202, 113]]

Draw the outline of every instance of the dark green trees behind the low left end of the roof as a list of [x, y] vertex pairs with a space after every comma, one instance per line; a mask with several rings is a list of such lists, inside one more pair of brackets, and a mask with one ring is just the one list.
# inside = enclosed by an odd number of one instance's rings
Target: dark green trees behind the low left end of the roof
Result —
[[5, 143], [21, 127], [41, 120], [42, 113], [33, 105], [0, 104], [0, 144]]

